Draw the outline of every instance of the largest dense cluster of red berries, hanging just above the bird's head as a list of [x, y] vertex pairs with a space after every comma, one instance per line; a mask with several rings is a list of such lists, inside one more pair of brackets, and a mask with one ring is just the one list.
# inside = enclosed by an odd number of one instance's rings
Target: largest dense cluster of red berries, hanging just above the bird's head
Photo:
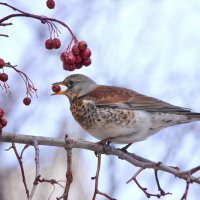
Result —
[[82, 66], [89, 66], [92, 63], [91, 54], [85, 41], [78, 42], [72, 47], [71, 51], [61, 53], [60, 58], [63, 61], [63, 69], [73, 71], [80, 69]]

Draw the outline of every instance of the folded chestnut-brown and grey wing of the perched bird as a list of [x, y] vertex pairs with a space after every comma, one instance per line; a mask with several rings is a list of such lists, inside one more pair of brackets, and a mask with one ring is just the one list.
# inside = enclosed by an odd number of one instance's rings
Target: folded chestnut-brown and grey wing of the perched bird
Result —
[[98, 86], [95, 90], [88, 93], [87, 97], [94, 99], [97, 107], [174, 114], [191, 113], [190, 109], [174, 106], [156, 98], [148, 97], [120, 87]]

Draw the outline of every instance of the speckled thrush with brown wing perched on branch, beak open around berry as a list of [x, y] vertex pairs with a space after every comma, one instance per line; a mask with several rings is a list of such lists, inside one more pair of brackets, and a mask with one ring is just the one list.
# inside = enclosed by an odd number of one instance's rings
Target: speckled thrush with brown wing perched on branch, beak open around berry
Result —
[[65, 95], [79, 125], [100, 142], [131, 145], [161, 129], [200, 120], [200, 113], [116, 86], [99, 85], [82, 74], [72, 74], [53, 85]]

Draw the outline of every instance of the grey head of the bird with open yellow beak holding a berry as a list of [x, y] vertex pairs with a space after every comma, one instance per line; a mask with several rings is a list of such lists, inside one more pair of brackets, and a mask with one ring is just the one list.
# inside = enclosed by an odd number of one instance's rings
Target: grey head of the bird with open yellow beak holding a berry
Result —
[[55, 92], [53, 95], [64, 94], [70, 101], [86, 95], [98, 86], [92, 79], [82, 74], [70, 75], [61, 82], [53, 83], [53, 85], [66, 86], [66, 90]]

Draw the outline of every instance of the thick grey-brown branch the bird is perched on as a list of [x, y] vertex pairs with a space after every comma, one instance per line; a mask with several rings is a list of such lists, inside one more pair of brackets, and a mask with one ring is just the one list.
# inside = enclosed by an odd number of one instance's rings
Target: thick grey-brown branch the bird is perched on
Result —
[[[46, 146], [55, 146], [55, 147], [64, 147], [64, 148], [81, 148], [90, 151], [94, 151], [97, 153], [105, 152], [107, 155], [114, 155], [119, 157], [120, 159], [126, 160], [132, 165], [140, 168], [149, 168], [155, 169], [163, 172], [168, 172], [178, 178], [188, 180], [188, 176], [190, 176], [190, 181], [194, 183], [200, 184], [200, 178], [194, 177], [191, 174], [190, 170], [187, 170], [188, 173], [183, 173], [179, 169], [175, 167], [166, 166], [162, 163], [156, 163], [151, 160], [142, 158], [132, 153], [124, 153], [120, 149], [116, 149], [111, 146], [103, 147], [100, 144], [88, 142], [85, 140], [72, 140], [67, 138], [68, 144], [66, 145], [64, 139], [51, 138], [51, 137], [42, 137], [42, 136], [32, 136], [32, 135], [22, 135], [22, 134], [14, 134], [14, 133], [2, 133], [0, 136], [0, 142], [8, 142], [8, 143], [20, 143], [20, 144], [29, 144], [34, 145], [34, 140], [38, 142], [38, 145], [46, 145]], [[199, 167], [196, 167], [199, 168]]]

